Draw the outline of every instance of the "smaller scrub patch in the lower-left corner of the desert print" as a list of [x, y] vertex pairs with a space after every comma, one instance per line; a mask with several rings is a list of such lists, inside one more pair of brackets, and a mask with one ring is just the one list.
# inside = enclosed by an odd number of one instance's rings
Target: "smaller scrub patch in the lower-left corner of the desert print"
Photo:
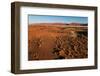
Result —
[[[39, 58], [39, 54], [38, 54], [38, 49], [39, 47], [41, 47], [41, 39], [40, 38], [32, 38], [32, 40], [29, 40], [28, 42], [28, 58], [29, 59], [34, 59], [34, 60], [38, 60]], [[36, 50], [37, 49], [37, 50]]]

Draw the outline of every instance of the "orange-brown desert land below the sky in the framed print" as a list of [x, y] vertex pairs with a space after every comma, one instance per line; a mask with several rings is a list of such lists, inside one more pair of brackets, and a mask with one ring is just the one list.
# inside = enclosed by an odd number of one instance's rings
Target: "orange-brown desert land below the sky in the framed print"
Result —
[[87, 26], [41, 23], [28, 26], [28, 60], [87, 58]]

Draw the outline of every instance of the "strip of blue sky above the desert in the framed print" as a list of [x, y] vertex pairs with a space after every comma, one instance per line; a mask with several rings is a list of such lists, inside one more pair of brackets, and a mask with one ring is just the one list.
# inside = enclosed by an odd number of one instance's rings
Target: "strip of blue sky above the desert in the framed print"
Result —
[[32, 23], [81, 23], [81, 24], [87, 24], [88, 17], [29, 15], [28, 21], [29, 21], [29, 24], [32, 24]]

